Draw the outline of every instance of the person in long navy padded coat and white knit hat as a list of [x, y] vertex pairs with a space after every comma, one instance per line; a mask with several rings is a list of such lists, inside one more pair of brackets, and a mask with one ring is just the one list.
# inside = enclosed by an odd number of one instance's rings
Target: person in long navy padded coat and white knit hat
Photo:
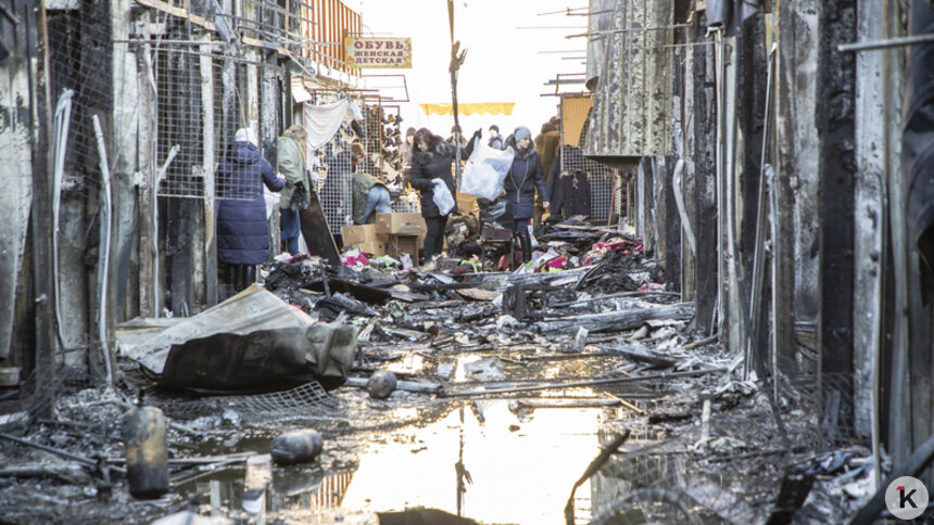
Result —
[[256, 148], [253, 130], [237, 131], [234, 144], [217, 167], [224, 189], [217, 201], [217, 260], [226, 265], [227, 282], [240, 292], [256, 281], [256, 265], [269, 258], [269, 227], [263, 185], [280, 191], [286, 179]]

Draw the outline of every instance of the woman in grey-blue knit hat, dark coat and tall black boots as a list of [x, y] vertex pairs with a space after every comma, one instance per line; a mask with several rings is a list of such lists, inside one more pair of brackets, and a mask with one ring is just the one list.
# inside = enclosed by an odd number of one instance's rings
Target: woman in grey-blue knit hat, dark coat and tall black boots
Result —
[[513, 217], [513, 231], [518, 235], [522, 245], [522, 261], [532, 257], [532, 238], [529, 234], [529, 219], [535, 212], [535, 190], [542, 196], [543, 206], [548, 208], [548, 190], [545, 187], [545, 174], [542, 171], [542, 159], [532, 148], [532, 133], [529, 128], [519, 126], [513, 132], [516, 156], [503, 190], [506, 192], [506, 215]]

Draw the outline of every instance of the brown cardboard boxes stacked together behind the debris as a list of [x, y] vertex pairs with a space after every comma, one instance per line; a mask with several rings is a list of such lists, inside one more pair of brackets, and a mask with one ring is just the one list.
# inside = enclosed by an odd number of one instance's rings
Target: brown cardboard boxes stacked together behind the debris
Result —
[[344, 247], [396, 258], [408, 254], [417, 260], [426, 231], [421, 214], [376, 214], [376, 225], [345, 226], [341, 235]]

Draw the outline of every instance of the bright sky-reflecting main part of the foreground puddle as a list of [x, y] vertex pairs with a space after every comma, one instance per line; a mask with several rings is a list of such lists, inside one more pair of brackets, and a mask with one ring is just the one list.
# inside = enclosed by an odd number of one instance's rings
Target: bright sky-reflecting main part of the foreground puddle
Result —
[[[426, 507], [459, 510], [485, 523], [565, 523], [570, 489], [598, 453], [602, 411], [540, 409], [519, 422], [508, 401], [482, 407], [482, 425], [469, 409], [458, 409], [369, 446], [342, 507], [373, 512]], [[577, 491], [579, 516], [589, 514], [589, 485]]]

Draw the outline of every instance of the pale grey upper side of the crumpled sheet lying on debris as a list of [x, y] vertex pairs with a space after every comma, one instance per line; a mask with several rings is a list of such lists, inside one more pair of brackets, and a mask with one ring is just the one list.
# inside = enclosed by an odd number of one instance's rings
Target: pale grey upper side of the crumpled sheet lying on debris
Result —
[[217, 306], [153, 333], [139, 344], [129, 344], [119, 337], [118, 344], [125, 356], [161, 374], [172, 345], [222, 332], [242, 335], [257, 330], [308, 326], [314, 322], [304, 311], [253, 284]]

